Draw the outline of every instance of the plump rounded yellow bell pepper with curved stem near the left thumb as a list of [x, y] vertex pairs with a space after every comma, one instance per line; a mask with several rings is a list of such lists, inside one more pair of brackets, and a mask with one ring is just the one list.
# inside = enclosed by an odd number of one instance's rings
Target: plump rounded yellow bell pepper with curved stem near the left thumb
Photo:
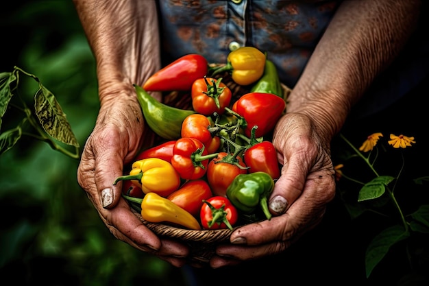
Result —
[[154, 192], [164, 198], [180, 187], [180, 176], [173, 165], [160, 158], [137, 160], [130, 175], [117, 178], [113, 184], [120, 180], [133, 180], [144, 193]]

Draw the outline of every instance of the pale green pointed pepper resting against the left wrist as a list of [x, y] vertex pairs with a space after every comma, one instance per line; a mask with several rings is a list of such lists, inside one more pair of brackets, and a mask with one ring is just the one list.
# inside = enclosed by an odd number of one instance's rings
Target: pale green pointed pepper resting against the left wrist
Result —
[[147, 125], [163, 139], [175, 140], [180, 138], [182, 123], [194, 110], [184, 110], [158, 102], [141, 86], [134, 84], [137, 99], [143, 111]]

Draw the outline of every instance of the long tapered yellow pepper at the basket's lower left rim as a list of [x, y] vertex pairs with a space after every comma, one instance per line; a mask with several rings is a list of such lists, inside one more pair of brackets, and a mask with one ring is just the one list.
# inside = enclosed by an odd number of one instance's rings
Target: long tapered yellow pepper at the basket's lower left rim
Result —
[[191, 213], [156, 193], [147, 193], [143, 199], [127, 195], [123, 195], [123, 197], [130, 202], [141, 204], [141, 216], [147, 222], [168, 222], [188, 229], [201, 229], [199, 222]]

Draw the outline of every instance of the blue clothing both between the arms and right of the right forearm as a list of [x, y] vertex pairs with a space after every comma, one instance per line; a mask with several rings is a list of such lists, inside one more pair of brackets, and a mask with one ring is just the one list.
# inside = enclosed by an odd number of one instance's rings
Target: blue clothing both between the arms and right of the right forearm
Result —
[[[237, 1], [235, 1], [237, 2]], [[280, 80], [293, 88], [341, 1], [159, 0], [164, 64], [199, 53], [224, 63], [232, 42], [267, 52]], [[427, 4], [424, 6], [427, 10]], [[424, 18], [424, 17], [423, 17]], [[426, 17], [427, 18], [427, 17]], [[423, 19], [427, 21], [426, 19]], [[378, 112], [419, 83], [428, 73], [426, 25], [389, 70], [382, 73], [352, 115]]]

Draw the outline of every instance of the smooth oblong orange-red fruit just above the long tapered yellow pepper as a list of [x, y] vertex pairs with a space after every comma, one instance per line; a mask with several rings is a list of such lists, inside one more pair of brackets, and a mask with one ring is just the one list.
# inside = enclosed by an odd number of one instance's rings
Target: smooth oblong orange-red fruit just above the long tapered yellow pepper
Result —
[[171, 193], [167, 199], [197, 217], [201, 206], [204, 204], [203, 200], [208, 200], [211, 197], [212, 190], [205, 180], [191, 180]]

